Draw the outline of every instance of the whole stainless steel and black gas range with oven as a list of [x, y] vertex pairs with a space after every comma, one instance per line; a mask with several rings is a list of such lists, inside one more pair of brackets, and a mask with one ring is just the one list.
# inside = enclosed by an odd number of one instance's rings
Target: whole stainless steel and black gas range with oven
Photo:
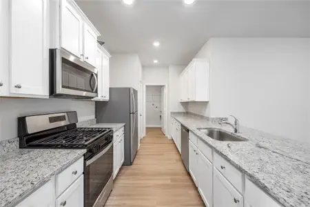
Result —
[[113, 188], [113, 130], [77, 122], [76, 112], [19, 117], [19, 148], [86, 149], [85, 207], [102, 207]]

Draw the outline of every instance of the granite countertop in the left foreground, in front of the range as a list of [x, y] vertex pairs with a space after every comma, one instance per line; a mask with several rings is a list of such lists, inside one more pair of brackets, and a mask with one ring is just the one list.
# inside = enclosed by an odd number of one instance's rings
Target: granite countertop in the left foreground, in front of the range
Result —
[[0, 155], [0, 207], [28, 197], [86, 150], [17, 149]]

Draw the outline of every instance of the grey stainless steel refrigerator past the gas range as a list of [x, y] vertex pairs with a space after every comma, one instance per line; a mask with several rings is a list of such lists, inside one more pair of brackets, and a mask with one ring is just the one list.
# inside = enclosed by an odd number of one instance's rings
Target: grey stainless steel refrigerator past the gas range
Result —
[[138, 150], [138, 92], [134, 88], [110, 88], [107, 102], [96, 101], [98, 123], [125, 123], [125, 161], [132, 165]]

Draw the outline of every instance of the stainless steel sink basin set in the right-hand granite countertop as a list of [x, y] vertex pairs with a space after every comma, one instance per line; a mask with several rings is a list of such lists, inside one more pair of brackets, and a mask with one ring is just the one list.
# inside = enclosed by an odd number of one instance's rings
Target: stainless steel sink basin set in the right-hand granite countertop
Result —
[[208, 137], [218, 141], [247, 141], [247, 139], [230, 135], [229, 133], [218, 130], [216, 128], [198, 128], [198, 130], [203, 132]]

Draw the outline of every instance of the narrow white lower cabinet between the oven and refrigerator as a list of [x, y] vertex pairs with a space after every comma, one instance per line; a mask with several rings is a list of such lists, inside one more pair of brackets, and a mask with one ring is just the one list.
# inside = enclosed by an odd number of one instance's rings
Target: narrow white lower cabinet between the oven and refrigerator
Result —
[[113, 179], [115, 179], [125, 160], [124, 128], [114, 132], [113, 140]]

